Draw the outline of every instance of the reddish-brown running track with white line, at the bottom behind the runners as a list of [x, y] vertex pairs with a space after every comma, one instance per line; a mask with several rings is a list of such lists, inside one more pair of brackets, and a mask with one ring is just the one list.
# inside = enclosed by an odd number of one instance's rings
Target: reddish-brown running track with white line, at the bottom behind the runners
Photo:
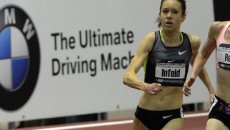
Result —
[[[185, 130], [204, 130], [207, 112], [185, 113]], [[16, 130], [132, 130], [132, 119], [74, 123]]]

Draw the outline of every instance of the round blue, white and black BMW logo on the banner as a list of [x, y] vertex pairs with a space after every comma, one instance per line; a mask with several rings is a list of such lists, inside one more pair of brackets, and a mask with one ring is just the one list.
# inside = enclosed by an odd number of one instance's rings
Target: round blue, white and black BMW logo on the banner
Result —
[[0, 108], [20, 109], [31, 97], [39, 75], [40, 48], [35, 26], [21, 8], [0, 10]]

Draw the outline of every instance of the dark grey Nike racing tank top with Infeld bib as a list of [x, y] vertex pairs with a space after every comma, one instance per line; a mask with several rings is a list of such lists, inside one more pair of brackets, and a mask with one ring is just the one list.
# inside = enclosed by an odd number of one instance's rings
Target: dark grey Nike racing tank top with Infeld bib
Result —
[[183, 43], [177, 47], [166, 47], [155, 32], [155, 41], [145, 64], [145, 82], [160, 83], [163, 86], [182, 87], [188, 73], [192, 56], [190, 40], [181, 33]]

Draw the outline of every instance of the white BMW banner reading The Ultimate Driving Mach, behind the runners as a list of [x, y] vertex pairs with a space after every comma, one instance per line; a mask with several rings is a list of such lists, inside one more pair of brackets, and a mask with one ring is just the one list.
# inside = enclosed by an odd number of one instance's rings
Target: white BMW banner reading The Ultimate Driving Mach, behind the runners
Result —
[[[1, 0], [0, 122], [135, 108], [141, 91], [122, 76], [141, 39], [159, 29], [159, 7], [160, 0]], [[181, 30], [205, 39], [212, 2], [187, 8]], [[208, 100], [197, 81], [185, 103]]]

